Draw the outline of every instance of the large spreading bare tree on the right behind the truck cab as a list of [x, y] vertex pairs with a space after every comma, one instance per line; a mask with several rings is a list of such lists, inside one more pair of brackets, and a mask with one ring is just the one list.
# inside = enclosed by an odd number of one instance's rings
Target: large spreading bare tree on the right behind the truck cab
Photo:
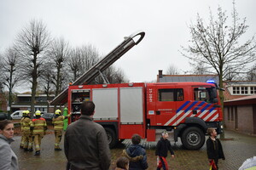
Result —
[[[211, 10], [210, 10], [211, 11]], [[247, 31], [246, 19], [240, 20], [235, 3], [231, 14], [232, 24], [228, 26], [226, 12], [218, 7], [218, 19], [214, 20], [210, 12], [207, 25], [197, 15], [195, 25], [189, 26], [191, 40], [188, 48], [183, 48], [185, 57], [195, 63], [205, 63], [218, 74], [219, 87], [223, 88], [223, 80], [230, 71], [241, 73], [246, 65], [255, 60], [256, 43], [254, 37], [243, 44], [241, 36]], [[219, 93], [223, 106], [223, 91]]]

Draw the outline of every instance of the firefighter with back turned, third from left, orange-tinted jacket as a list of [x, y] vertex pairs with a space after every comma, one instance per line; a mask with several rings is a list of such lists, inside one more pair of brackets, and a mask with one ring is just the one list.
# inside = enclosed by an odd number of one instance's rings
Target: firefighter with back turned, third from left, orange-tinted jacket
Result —
[[44, 137], [45, 131], [47, 130], [47, 124], [43, 117], [41, 117], [41, 111], [36, 111], [36, 118], [32, 119], [30, 128], [34, 137], [34, 144], [36, 148], [35, 156], [40, 155], [41, 139]]

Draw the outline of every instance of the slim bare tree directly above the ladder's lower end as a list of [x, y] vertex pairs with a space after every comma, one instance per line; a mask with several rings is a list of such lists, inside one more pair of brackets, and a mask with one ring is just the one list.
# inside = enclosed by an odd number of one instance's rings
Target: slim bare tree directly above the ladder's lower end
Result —
[[55, 96], [61, 93], [61, 82], [64, 79], [64, 64], [67, 62], [67, 57], [70, 54], [68, 42], [64, 38], [55, 39], [51, 45], [50, 58], [53, 59], [54, 67], [52, 83], [55, 85]]

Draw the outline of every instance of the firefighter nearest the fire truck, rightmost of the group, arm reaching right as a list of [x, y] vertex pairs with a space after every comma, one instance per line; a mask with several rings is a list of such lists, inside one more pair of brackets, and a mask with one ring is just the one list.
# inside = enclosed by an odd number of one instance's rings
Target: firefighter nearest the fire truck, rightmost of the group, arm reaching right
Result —
[[61, 150], [60, 148], [60, 143], [61, 143], [61, 137], [62, 137], [62, 132], [63, 132], [63, 126], [64, 126], [64, 119], [67, 119], [67, 116], [62, 116], [61, 115], [61, 110], [56, 110], [55, 111], [55, 117], [52, 119], [52, 124], [55, 129], [55, 150]]

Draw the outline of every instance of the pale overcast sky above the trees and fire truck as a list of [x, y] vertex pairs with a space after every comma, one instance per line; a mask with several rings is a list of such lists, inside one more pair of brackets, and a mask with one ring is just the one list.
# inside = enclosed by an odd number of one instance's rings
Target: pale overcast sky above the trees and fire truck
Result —
[[[230, 15], [232, 0], [1, 0], [0, 52], [14, 42], [32, 19], [43, 20], [52, 37], [64, 37], [73, 47], [94, 45], [108, 54], [135, 31], [145, 31], [142, 42], [115, 62], [131, 82], [156, 80], [158, 70], [169, 65], [189, 70], [189, 60], [178, 50], [188, 44], [196, 14], [217, 16], [218, 5]], [[256, 1], [236, 0], [240, 18], [256, 33]]]

